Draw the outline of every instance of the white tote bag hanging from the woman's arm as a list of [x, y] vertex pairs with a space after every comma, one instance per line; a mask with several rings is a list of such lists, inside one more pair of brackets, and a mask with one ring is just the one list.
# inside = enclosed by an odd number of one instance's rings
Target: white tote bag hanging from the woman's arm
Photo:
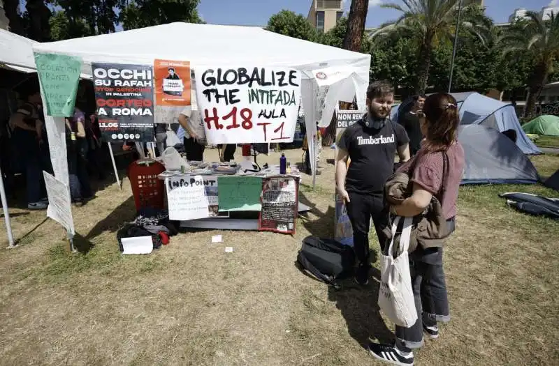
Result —
[[400, 236], [400, 245], [396, 251], [398, 256], [394, 258], [394, 237], [400, 219], [402, 219], [400, 216], [396, 216], [392, 224], [392, 239], [388, 248], [388, 255], [384, 255], [384, 252], [382, 252], [380, 257], [379, 307], [393, 323], [409, 328], [417, 320], [412, 276], [409, 274], [407, 257], [409, 236], [412, 232], [412, 218], [403, 218], [404, 224]]

